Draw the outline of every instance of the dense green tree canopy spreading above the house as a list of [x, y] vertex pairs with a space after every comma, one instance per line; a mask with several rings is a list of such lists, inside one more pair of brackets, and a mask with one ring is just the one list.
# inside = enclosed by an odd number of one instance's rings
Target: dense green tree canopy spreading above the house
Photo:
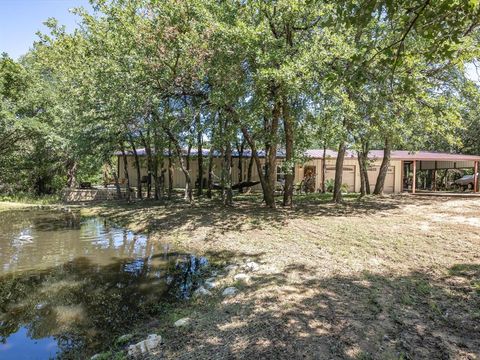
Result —
[[290, 144], [286, 173], [340, 142], [479, 152], [476, 0], [94, 4], [2, 55], [0, 192], [102, 182], [121, 148]]

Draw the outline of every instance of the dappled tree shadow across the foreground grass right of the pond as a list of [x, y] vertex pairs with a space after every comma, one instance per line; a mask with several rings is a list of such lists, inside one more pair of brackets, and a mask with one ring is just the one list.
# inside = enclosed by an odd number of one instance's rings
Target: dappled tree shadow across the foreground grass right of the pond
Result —
[[[315, 278], [291, 266], [258, 276], [234, 299], [164, 329], [179, 359], [475, 359], [480, 265], [425, 273]], [[292, 281], [292, 276], [294, 281]]]

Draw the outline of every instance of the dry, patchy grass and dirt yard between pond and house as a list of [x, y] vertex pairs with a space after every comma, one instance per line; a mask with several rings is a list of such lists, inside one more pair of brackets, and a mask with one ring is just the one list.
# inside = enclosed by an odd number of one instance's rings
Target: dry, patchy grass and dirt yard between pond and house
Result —
[[[297, 199], [100, 206], [157, 241], [225, 264], [210, 298], [175, 310], [192, 324], [148, 325], [175, 359], [479, 359], [480, 198], [397, 196], [343, 205]], [[226, 286], [240, 292], [223, 298]], [[150, 329], [146, 329], [148, 333]]]

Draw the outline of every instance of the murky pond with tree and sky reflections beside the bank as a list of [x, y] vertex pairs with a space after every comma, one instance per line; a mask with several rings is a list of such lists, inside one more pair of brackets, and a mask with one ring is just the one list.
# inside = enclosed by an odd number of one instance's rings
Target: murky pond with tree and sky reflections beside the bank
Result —
[[0, 359], [87, 358], [189, 298], [207, 263], [75, 211], [0, 212]]

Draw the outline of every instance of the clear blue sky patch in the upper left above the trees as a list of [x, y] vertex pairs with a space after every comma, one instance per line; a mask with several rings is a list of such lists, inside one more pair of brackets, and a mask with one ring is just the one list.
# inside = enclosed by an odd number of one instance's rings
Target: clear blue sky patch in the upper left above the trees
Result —
[[38, 39], [36, 32], [47, 31], [43, 22], [49, 17], [73, 30], [78, 17], [69, 9], [80, 6], [91, 8], [88, 0], [0, 0], [0, 53], [14, 59], [25, 54]]

